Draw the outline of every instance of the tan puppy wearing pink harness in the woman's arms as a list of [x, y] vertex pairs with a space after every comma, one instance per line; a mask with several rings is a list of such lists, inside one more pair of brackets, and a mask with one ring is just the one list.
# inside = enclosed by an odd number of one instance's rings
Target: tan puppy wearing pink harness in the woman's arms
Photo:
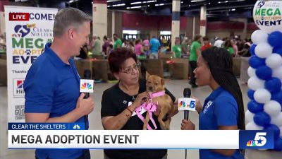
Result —
[[[164, 91], [164, 83], [168, 81], [167, 79], [161, 78], [156, 75], [149, 75], [146, 73], [146, 88], [148, 93], [158, 93]], [[171, 118], [167, 119], [166, 122], [163, 121], [166, 114], [171, 114], [173, 111], [173, 101], [169, 95], [161, 95], [159, 97], [153, 98], [152, 102], [157, 104], [157, 111], [154, 114], [159, 114], [158, 121], [161, 129], [168, 130], [169, 124], [171, 123]], [[147, 129], [147, 124], [149, 122], [149, 112], [147, 112], [146, 119], [144, 121], [143, 130]]]

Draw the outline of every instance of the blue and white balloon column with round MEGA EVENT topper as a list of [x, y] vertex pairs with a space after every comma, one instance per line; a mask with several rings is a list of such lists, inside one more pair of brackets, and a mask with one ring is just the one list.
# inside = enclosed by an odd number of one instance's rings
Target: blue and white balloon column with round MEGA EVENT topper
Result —
[[246, 129], [273, 130], [274, 148], [282, 151], [282, 1], [257, 1], [253, 18]]

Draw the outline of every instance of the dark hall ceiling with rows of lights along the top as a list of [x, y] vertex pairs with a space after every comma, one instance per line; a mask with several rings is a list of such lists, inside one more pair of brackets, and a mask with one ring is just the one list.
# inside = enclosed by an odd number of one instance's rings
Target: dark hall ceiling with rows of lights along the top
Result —
[[[31, 3], [33, 6], [73, 6], [92, 13], [92, 0], [9, 0]], [[181, 16], [200, 15], [200, 7], [207, 7], [208, 20], [228, 20], [230, 17], [252, 19], [252, 8], [257, 0], [179, 0]], [[170, 15], [172, 0], [107, 0], [109, 10], [137, 11], [147, 14]], [[58, 7], [59, 8], [59, 7]]]

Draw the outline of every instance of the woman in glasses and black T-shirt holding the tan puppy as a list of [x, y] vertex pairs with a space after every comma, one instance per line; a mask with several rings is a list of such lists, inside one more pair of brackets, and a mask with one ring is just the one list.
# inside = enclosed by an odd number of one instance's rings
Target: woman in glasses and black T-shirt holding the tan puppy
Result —
[[[110, 70], [119, 82], [103, 93], [102, 125], [106, 130], [142, 130], [143, 122], [135, 109], [149, 99], [149, 94], [146, 92], [146, 81], [139, 78], [140, 65], [137, 64], [136, 54], [124, 48], [115, 49], [108, 60]], [[168, 90], [166, 94], [173, 102], [176, 100]], [[176, 112], [169, 115], [172, 117]], [[147, 114], [145, 110], [139, 113], [143, 117]], [[157, 116], [153, 114], [153, 118], [157, 129], [160, 129]], [[105, 159], [165, 159], [166, 154], [167, 150], [104, 150]]]

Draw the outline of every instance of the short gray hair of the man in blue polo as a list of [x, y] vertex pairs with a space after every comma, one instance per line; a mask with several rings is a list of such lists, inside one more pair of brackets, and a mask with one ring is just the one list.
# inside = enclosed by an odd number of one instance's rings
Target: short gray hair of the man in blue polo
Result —
[[82, 23], [92, 18], [77, 8], [63, 8], [56, 13], [53, 36], [60, 37], [70, 26], [78, 28]]

